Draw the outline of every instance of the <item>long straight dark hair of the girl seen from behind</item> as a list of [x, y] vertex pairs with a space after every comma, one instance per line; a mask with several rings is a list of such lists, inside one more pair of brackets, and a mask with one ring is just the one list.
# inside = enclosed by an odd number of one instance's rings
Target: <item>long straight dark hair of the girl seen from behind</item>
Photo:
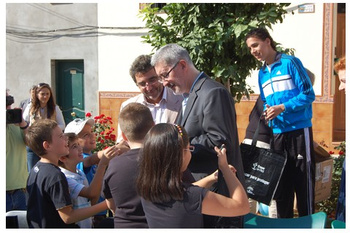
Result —
[[136, 180], [141, 197], [155, 203], [183, 199], [181, 168], [188, 143], [186, 131], [178, 125], [159, 123], [147, 133]]

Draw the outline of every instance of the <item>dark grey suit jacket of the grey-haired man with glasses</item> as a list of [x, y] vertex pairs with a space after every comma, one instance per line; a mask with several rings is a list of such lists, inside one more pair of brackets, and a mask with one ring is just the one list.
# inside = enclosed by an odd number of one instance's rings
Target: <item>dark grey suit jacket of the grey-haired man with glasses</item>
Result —
[[[196, 180], [218, 169], [214, 146], [226, 145], [227, 161], [237, 169], [244, 186], [244, 172], [236, 126], [235, 105], [231, 94], [219, 82], [202, 73], [189, 93], [183, 117], [178, 117], [195, 146], [188, 168]], [[217, 191], [227, 195], [226, 184], [219, 175]]]

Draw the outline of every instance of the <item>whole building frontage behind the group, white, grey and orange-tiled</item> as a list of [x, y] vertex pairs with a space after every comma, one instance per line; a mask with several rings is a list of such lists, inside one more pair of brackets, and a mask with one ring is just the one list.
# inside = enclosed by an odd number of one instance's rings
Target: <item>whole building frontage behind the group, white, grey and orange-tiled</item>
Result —
[[[293, 3], [271, 31], [314, 74], [314, 138], [329, 146], [345, 139], [345, 95], [337, 91], [333, 72], [334, 59], [345, 55], [344, 5]], [[29, 97], [33, 84], [46, 82], [66, 121], [71, 112], [104, 113], [116, 126], [120, 104], [139, 92], [129, 67], [138, 55], [152, 52], [141, 38], [147, 34], [138, 15], [141, 6], [134, 1], [7, 3], [6, 87], [15, 105]], [[236, 104], [240, 141], [259, 92], [256, 71], [247, 83], [256, 94]]]

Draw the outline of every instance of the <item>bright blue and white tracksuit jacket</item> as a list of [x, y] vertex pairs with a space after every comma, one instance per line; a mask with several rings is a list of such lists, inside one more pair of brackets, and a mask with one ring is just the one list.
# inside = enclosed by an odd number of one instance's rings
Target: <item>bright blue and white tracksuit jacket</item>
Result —
[[264, 65], [259, 71], [261, 99], [265, 105], [285, 106], [285, 111], [273, 119], [273, 133], [311, 127], [315, 93], [301, 61], [280, 53], [270, 67], [271, 70]]

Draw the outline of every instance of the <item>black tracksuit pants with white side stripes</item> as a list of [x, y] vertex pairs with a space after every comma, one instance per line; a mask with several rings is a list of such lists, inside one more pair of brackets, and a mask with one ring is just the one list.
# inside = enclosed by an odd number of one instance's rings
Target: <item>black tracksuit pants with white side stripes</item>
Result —
[[287, 155], [274, 199], [278, 218], [293, 218], [294, 193], [299, 216], [315, 211], [315, 155], [312, 127], [274, 134], [275, 150]]

